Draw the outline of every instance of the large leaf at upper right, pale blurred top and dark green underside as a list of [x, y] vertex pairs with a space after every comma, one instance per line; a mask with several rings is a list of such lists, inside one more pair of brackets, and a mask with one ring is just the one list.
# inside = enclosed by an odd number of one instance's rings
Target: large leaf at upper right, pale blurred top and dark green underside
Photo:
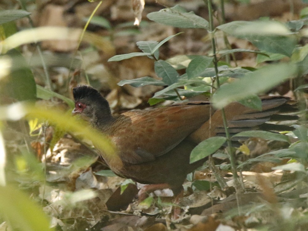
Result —
[[260, 50], [291, 56], [297, 41], [295, 35], [276, 21], [234, 21], [218, 29], [240, 39], [247, 39]]

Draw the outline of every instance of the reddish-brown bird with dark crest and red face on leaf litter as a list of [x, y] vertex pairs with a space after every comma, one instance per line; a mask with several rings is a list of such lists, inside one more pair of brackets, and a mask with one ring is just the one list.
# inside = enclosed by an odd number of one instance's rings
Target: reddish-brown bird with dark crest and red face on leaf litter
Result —
[[[221, 110], [210, 102], [185, 102], [149, 110], [127, 111], [112, 115], [107, 100], [95, 88], [81, 85], [73, 89], [75, 108], [92, 127], [107, 135], [116, 147], [122, 164], [112, 161], [102, 151], [99, 154], [118, 176], [141, 184], [139, 198], [156, 189], [170, 188], [174, 195], [183, 190], [188, 173], [201, 166], [205, 159], [189, 163], [190, 153], [201, 141], [212, 136], [223, 136]], [[256, 129], [286, 130], [285, 125], [268, 124], [271, 119], [287, 120], [281, 115], [292, 111], [289, 98], [265, 96], [262, 110], [234, 102], [225, 107], [225, 115], [232, 134]]]

